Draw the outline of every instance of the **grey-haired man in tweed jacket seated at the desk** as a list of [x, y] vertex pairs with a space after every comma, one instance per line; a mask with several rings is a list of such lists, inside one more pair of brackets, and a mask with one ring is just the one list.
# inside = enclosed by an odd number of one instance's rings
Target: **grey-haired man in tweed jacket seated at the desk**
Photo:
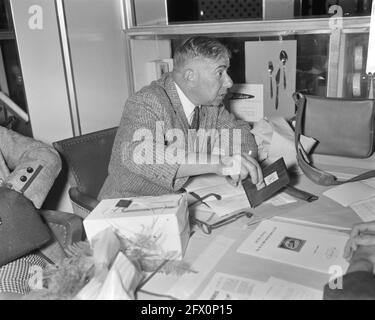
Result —
[[[219, 41], [192, 37], [177, 48], [172, 73], [128, 99], [99, 199], [177, 192], [190, 176], [205, 173], [262, 181], [249, 124], [222, 103], [233, 85], [229, 59]], [[199, 143], [189, 129], [196, 106]], [[203, 151], [207, 159], [196, 160]]]

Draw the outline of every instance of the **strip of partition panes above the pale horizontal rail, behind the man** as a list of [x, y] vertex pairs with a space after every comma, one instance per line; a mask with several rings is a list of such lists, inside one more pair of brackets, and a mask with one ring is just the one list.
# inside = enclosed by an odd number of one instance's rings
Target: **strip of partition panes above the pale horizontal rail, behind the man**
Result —
[[372, 0], [126, 0], [133, 26], [369, 16]]

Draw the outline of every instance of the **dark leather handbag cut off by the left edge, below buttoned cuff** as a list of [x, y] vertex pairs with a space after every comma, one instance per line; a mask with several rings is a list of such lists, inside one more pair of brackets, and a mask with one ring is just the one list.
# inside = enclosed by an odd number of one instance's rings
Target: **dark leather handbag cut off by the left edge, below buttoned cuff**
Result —
[[0, 267], [40, 248], [50, 231], [24, 195], [0, 187]]

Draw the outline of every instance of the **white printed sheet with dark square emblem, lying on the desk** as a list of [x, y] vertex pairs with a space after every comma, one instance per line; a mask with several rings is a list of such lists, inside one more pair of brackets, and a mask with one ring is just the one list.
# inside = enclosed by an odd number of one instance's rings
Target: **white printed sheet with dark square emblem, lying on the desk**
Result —
[[343, 258], [348, 234], [270, 219], [260, 223], [239, 246], [238, 253], [329, 273], [332, 265], [343, 271], [348, 262]]

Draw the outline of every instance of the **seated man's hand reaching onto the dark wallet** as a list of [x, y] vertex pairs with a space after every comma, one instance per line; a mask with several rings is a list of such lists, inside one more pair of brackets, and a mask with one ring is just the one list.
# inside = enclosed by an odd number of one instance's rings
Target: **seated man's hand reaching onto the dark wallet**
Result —
[[247, 154], [222, 156], [220, 162], [218, 175], [230, 176], [234, 181], [243, 180], [250, 175], [252, 183], [263, 182], [263, 173], [258, 161]]

